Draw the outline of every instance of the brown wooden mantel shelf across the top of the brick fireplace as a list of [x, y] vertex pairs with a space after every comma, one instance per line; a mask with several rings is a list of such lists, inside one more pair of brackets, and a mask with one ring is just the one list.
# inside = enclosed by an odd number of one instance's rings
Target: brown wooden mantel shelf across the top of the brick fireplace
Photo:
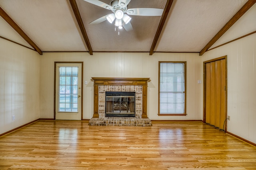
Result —
[[92, 77], [94, 85], [140, 85], [147, 86], [149, 78]]

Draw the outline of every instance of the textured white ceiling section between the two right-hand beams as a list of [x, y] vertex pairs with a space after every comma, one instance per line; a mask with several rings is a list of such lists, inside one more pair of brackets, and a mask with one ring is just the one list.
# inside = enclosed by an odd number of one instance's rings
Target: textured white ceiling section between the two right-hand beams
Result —
[[155, 51], [201, 51], [246, 1], [174, 1]]

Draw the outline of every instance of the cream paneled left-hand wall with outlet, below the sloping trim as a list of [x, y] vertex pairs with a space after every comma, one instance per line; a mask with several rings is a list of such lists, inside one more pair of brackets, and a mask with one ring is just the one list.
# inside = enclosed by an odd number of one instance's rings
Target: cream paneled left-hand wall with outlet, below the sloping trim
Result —
[[0, 39], [0, 134], [39, 118], [39, 58], [35, 51]]

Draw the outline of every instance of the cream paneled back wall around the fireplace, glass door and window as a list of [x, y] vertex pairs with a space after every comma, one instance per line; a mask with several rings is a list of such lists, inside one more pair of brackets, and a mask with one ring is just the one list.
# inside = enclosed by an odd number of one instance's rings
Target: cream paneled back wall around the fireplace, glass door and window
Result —
[[[40, 57], [40, 118], [54, 117], [54, 61], [83, 61], [83, 118], [93, 115], [92, 77], [150, 78], [148, 117], [153, 120], [202, 120], [202, 61], [198, 53], [44, 53]], [[187, 61], [187, 116], [158, 116], [158, 61]]]

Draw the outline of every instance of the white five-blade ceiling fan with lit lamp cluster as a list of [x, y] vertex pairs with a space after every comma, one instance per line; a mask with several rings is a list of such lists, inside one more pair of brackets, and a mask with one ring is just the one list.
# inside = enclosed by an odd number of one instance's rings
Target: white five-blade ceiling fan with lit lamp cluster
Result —
[[[130, 23], [130, 20], [132, 19], [128, 15], [134, 15], [134, 16], [161, 16], [163, 13], [163, 9], [159, 8], [130, 8], [128, 9], [128, 4], [131, 0], [112, 0], [110, 2], [110, 5], [101, 2], [99, 0], [84, 0], [86, 2], [89, 2], [91, 4], [100, 6], [102, 8], [112, 10], [113, 14], [108, 14], [106, 16], [103, 16], [101, 18], [98, 18], [97, 20], [94, 20], [90, 22], [89, 24], [98, 24], [103, 21], [108, 20], [110, 23], [113, 23], [115, 21], [115, 26], [119, 29], [124, 29], [126, 31], [132, 30], [132, 24]], [[119, 34], [119, 32], [118, 32]]]

